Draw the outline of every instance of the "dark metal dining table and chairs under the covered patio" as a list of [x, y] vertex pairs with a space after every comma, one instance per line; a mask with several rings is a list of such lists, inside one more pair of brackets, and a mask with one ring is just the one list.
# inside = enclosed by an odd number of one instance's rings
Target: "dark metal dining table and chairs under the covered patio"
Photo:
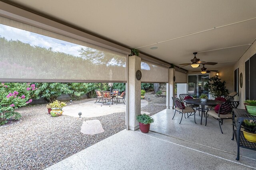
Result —
[[[207, 117], [210, 115], [214, 119], [218, 120], [220, 131], [222, 132], [221, 125], [223, 124], [224, 119], [232, 119], [232, 109], [237, 108], [239, 105], [238, 101], [233, 101], [236, 92], [233, 94], [229, 94], [229, 96], [220, 96], [215, 98], [215, 100], [206, 100], [201, 101], [200, 99], [194, 99], [188, 94], [180, 94], [179, 98], [172, 98], [174, 102], [175, 112], [178, 111], [179, 113], [184, 114], [186, 119], [194, 115], [194, 121], [196, 123], [196, 111], [199, 112], [199, 116], [201, 117], [201, 125], [202, 125], [202, 118], [205, 117], [205, 126], [207, 125]], [[186, 104], [186, 106], [185, 106]], [[201, 115], [200, 115], [201, 113]], [[172, 119], [174, 118], [172, 117]], [[180, 123], [182, 121], [182, 117], [180, 119]]]

